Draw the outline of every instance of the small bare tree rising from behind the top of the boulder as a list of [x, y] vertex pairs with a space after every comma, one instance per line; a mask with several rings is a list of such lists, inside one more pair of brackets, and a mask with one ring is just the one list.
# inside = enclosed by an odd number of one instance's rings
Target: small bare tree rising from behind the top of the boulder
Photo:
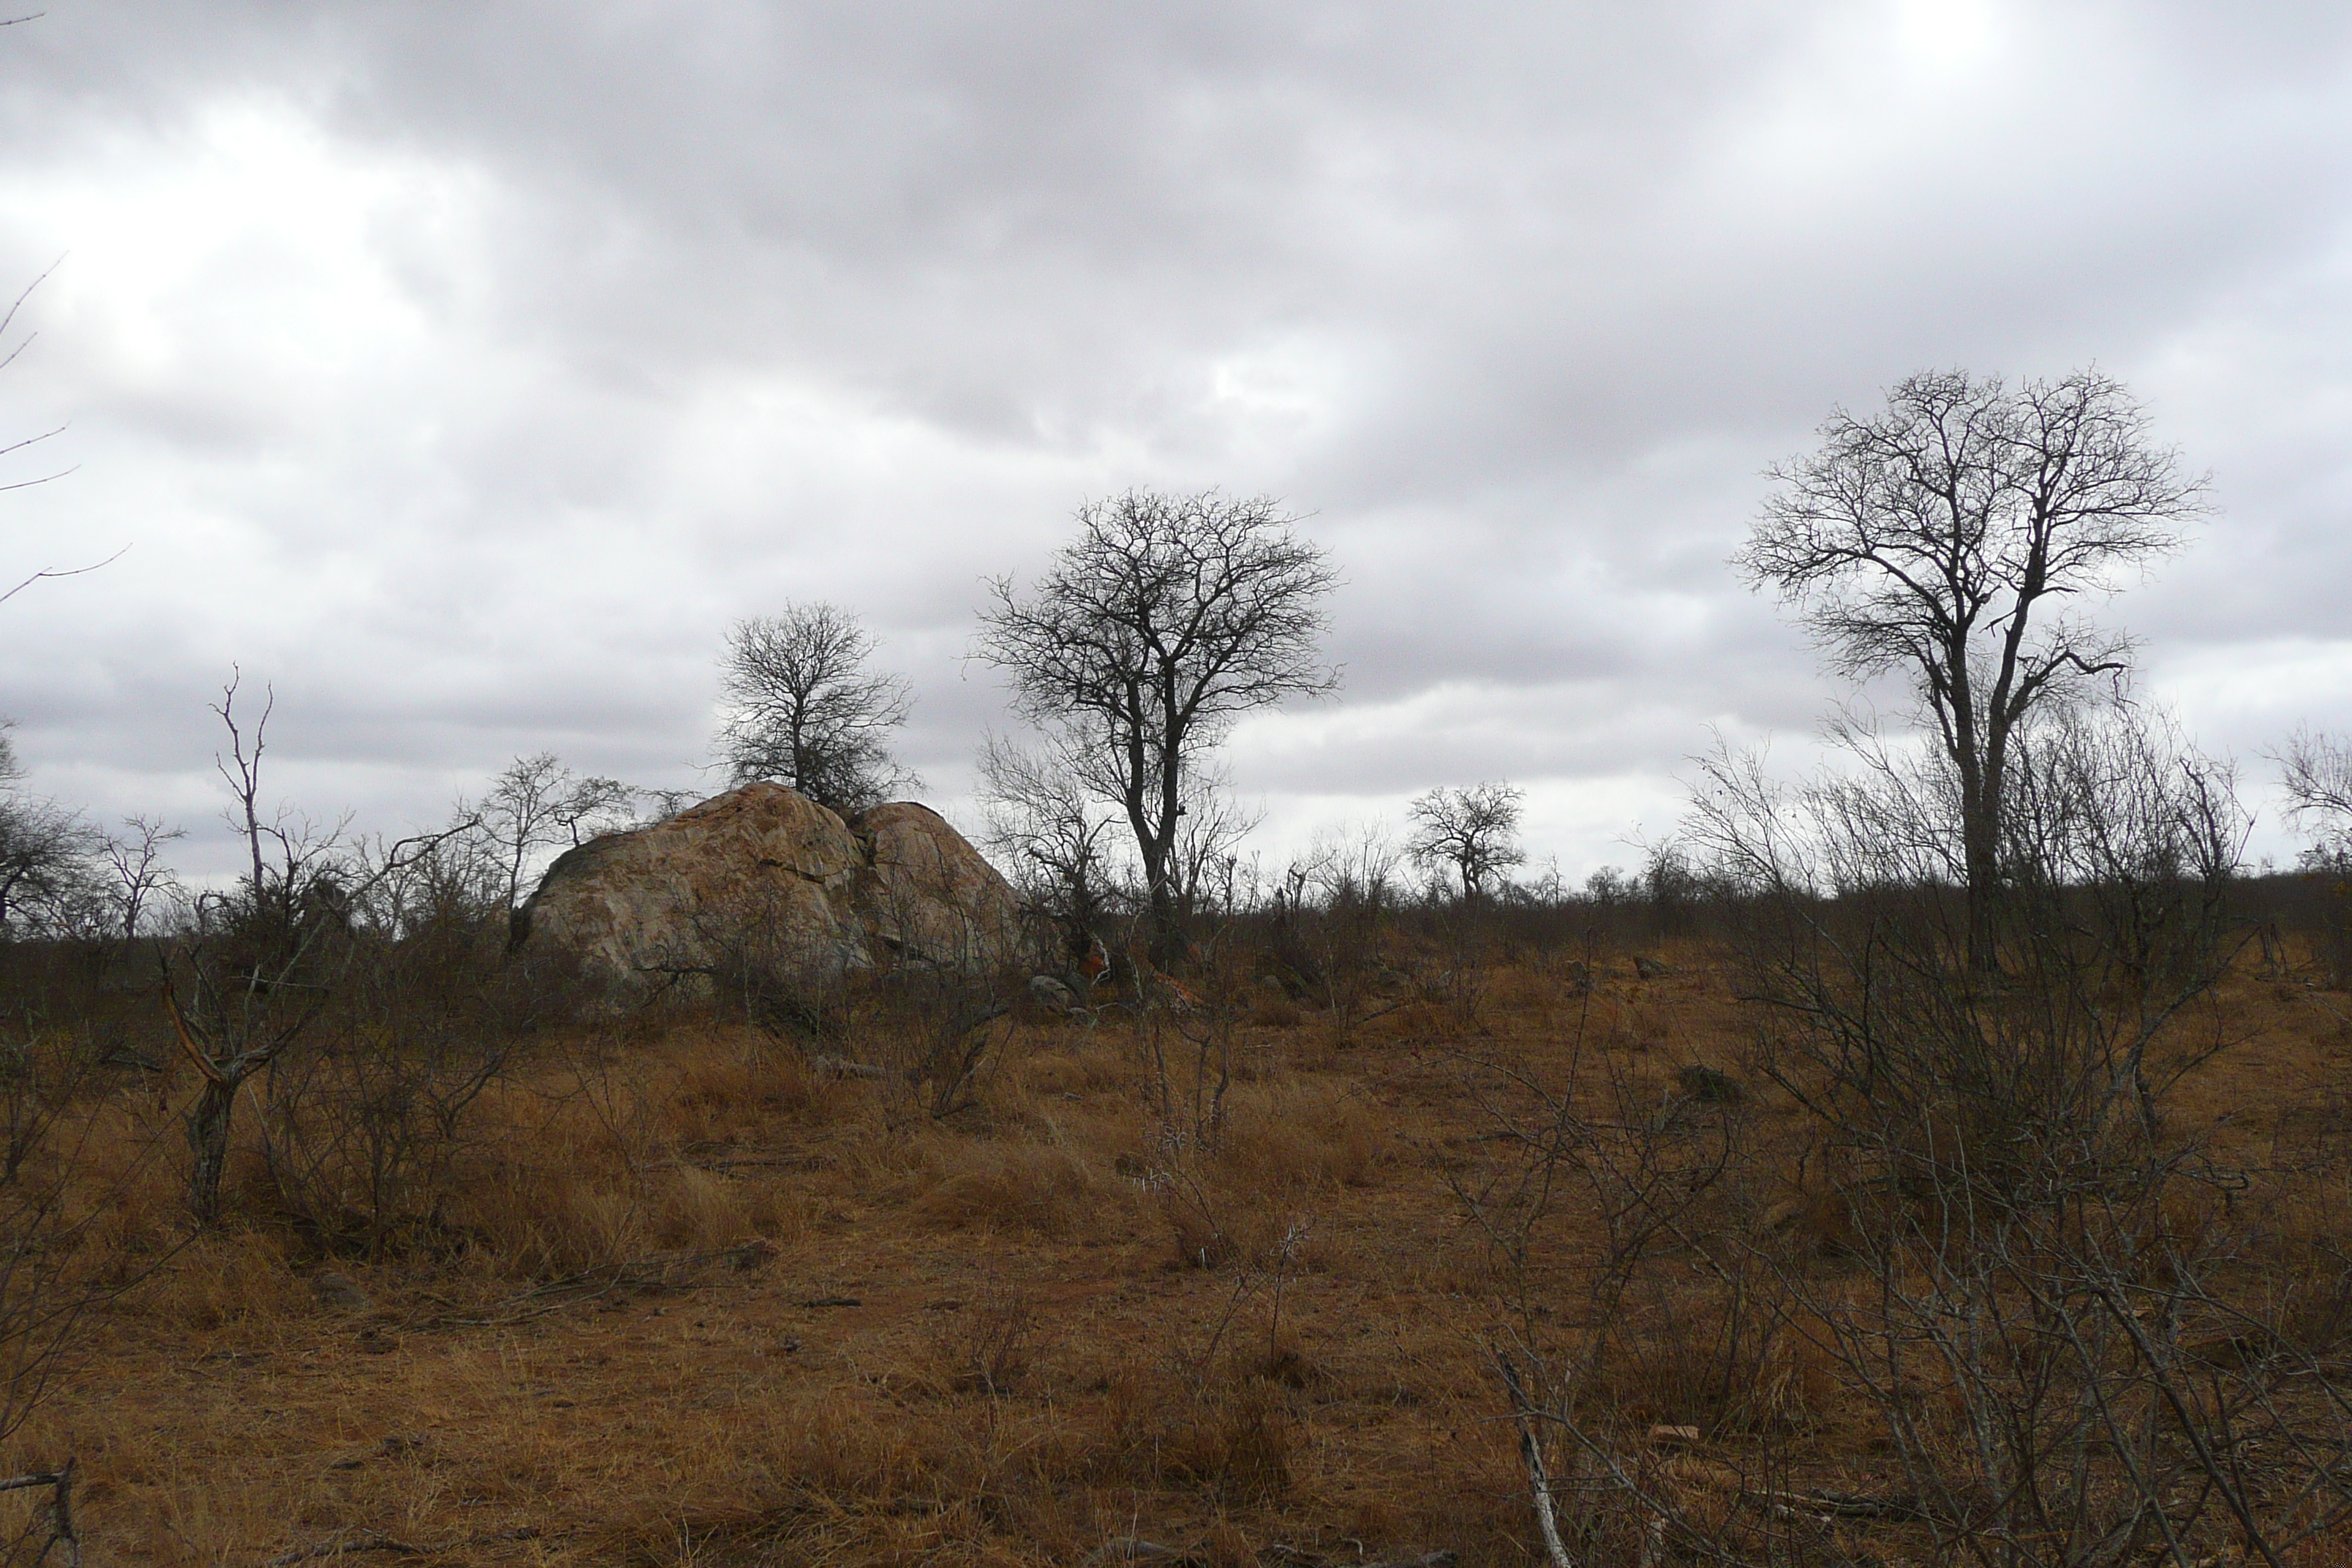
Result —
[[736, 621], [720, 665], [717, 743], [729, 778], [774, 778], [844, 816], [913, 783], [889, 755], [889, 733], [906, 724], [915, 693], [906, 677], [870, 670], [873, 654], [873, 632], [823, 602]]

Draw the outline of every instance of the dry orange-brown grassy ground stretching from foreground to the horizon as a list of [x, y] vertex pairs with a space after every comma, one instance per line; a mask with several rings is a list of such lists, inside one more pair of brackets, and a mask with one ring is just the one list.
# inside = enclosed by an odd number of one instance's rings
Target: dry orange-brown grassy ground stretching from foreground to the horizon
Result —
[[[1818, 933], [1757, 903], [1235, 919], [1197, 1011], [993, 1020], [948, 1117], [938, 999], [889, 978], [816, 1046], [412, 938], [249, 1081], [209, 1229], [155, 987], [21, 945], [0, 1326], [80, 1316], [7, 1443], [75, 1458], [92, 1561], [1515, 1563], [1519, 1413], [1573, 1561], [1962, 1561], [2009, 1481], [2122, 1528], [2140, 1455], [2199, 1561], [2234, 1486], [2336, 1563], [2352, 999], [2303, 886], [2239, 893], [2274, 947], [2216, 929], [2105, 1121], [2133, 980], [2049, 1034], [2004, 992], [2039, 1048], [1952, 1074], [1891, 1034], [1858, 1098]], [[1964, 931], [1882, 914], [1898, 973]]]

